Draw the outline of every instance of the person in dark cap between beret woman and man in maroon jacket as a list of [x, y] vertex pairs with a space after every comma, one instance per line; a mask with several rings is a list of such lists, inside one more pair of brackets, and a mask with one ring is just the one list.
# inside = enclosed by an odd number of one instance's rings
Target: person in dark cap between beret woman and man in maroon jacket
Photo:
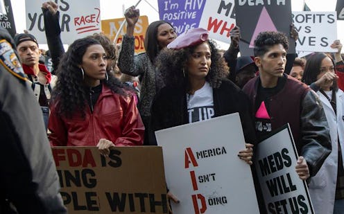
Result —
[[242, 89], [250, 79], [255, 78], [257, 66], [251, 57], [238, 57], [235, 73], [235, 84]]

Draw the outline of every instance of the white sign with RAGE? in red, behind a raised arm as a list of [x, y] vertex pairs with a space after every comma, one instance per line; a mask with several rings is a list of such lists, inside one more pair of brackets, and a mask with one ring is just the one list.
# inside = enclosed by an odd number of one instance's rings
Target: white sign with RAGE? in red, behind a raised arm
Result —
[[[26, 30], [35, 35], [37, 42], [46, 44], [42, 3], [45, 0], [26, 0]], [[71, 44], [75, 39], [83, 38], [101, 31], [101, 10], [99, 0], [60, 0], [61, 38], [63, 44]]]

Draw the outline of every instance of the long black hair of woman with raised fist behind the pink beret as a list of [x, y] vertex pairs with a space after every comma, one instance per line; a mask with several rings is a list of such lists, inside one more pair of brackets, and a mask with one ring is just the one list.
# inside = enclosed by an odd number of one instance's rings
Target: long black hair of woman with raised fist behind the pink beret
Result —
[[162, 49], [157, 42], [157, 28], [162, 24], [169, 24], [172, 28], [173, 26], [167, 21], [153, 21], [149, 24], [146, 30], [146, 36], [144, 39], [144, 49], [146, 50], [146, 54], [149, 57], [150, 62], [154, 63], [155, 57]]

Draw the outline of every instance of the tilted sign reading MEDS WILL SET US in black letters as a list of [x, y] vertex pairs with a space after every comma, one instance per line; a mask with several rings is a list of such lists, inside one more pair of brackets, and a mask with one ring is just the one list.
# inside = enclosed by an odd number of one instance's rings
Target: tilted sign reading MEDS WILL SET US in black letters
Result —
[[255, 146], [255, 169], [268, 213], [314, 213], [289, 125]]

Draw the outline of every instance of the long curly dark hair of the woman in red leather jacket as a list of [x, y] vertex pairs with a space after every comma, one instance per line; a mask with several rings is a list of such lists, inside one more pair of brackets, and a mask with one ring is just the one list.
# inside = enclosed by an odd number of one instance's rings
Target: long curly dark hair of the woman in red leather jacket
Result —
[[[87, 106], [87, 93], [89, 89], [84, 83], [83, 73], [80, 71], [80, 64], [83, 62], [83, 55], [89, 46], [100, 44], [96, 39], [85, 37], [76, 39], [63, 55], [56, 74], [58, 81], [53, 89], [52, 104], [58, 101], [57, 112], [62, 116], [71, 117], [74, 112], [81, 112], [85, 116]], [[114, 78], [107, 71], [108, 80], [101, 80], [114, 93], [128, 96], [126, 87], [117, 78]]]

